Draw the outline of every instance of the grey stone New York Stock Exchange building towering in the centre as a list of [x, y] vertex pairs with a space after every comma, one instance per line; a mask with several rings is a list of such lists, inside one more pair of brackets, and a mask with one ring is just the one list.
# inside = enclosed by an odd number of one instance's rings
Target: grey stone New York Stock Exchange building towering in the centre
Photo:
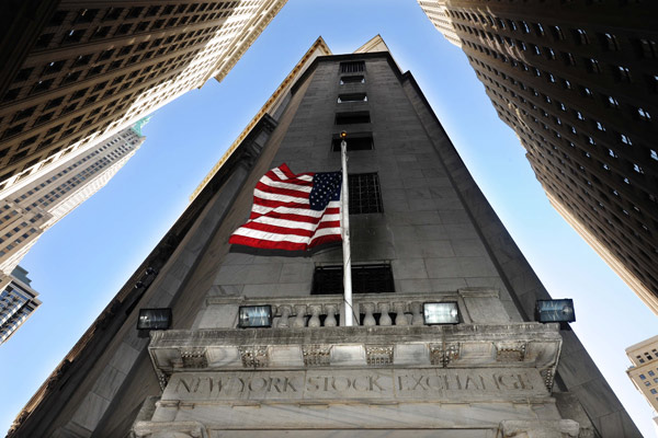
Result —
[[[355, 326], [340, 247], [228, 244], [270, 169], [339, 170], [342, 130]], [[639, 436], [574, 332], [534, 321], [548, 293], [379, 37], [318, 39], [222, 162], [11, 437]]]

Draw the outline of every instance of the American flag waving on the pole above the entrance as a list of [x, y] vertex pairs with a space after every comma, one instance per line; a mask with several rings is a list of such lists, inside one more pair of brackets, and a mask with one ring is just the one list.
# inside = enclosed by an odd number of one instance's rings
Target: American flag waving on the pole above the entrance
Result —
[[340, 242], [341, 180], [340, 172], [295, 175], [285, 164], [272, 169], [256, 185], [249, 220], [228, 242], [286, 251]]

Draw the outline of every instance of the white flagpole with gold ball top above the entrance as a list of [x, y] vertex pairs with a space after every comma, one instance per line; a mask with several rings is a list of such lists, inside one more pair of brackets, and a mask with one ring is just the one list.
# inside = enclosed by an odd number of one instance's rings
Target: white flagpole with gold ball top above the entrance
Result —
[[342, 163], [342, 184], [341, 184], [341, 215], [340, 231], [343, 241], [343, 290], [344, 290], [344, 315], [345, 325], [351, 326], [353, 323], [352, 310], [352, 256], [350, 254], [350, 200], [348, 199], [348, 143], [345, 138], [348, 132], [340, 132], [340, 154]]

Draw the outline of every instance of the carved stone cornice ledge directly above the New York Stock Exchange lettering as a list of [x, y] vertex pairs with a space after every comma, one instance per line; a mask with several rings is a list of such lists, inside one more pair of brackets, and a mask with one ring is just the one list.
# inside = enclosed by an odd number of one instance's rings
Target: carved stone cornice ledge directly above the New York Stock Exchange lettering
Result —
[[[365, 307], [372, 311], [371, 306]], [[317, 311], [310, 309], [311, 315]], [[294, 319], [291, 316], [290, 325]], [[392, 365], [438, 368], [530, 366], [543, 371], [554, 370], [559, 356], [558, 327], [551, 324], [417, 326], [412, 321], [409, 323], [401, 326], [170, 330], [152, 337], [149, 351], [154, 367], [163, 374], [186, 369]], [[552, 378], [546, 376], [546, 384], [551, 388]]]

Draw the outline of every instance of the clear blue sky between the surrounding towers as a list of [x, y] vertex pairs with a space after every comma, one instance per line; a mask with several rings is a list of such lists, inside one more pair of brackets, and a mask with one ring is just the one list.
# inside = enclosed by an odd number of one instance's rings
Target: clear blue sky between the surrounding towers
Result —
[[97, 195], [23, 260], [44, 304], [0, 346], [0, 429], [186, 207], [189, 196], [311, 43], [351, 53], [381, 34], [410, 70], [468, 170], [555, 298], [574, 298], [577, 335], [645, 436], [651, 410], [624, 348], [658, 333], [656, 316], [551, 207], [515, 135], [497, 116], [466, 56], [415, 0], [290, 0], [222, 83], [208, 81], [154, 114], [147, 140]]

